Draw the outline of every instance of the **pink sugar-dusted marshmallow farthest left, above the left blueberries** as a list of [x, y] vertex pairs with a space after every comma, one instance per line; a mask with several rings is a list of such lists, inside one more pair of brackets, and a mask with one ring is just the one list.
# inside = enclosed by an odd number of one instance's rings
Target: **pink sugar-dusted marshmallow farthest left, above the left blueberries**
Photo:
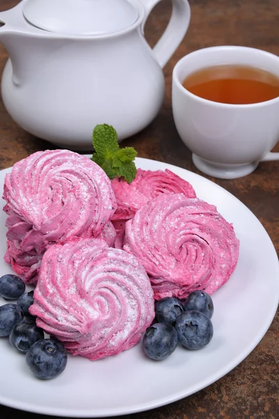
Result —
[[5, 260], [27, 283], [36, 283], [35, 265], [54, 243], [98, 235], [114, 242], [116, 233], [107, 224], [116, 210], [112, 185], [86, 156], [68, 150], [32, 154], [6, 175], [3, 198], [8, 214]]

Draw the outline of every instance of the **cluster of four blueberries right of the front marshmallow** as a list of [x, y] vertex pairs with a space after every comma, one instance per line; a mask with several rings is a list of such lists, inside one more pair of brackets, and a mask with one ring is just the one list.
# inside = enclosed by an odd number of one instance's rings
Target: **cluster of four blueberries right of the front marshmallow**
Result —
[[165, 297], [155, 304], [158, 323], [146, 329], [142, 346], [153, 360], [165, 360], [176, 346], [200, 349], [213, 337], [213, 301], [204, 291], [193, 291], [184, 304], [174, 297]]

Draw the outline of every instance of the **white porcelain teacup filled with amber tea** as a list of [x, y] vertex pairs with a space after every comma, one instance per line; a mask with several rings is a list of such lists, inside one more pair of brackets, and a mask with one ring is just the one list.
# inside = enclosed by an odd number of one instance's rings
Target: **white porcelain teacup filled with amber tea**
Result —
[[233, 45], [190, 52], [174, 66], [172, 112], [206, 175], [235, 179], [279, 160], [279, 57]]

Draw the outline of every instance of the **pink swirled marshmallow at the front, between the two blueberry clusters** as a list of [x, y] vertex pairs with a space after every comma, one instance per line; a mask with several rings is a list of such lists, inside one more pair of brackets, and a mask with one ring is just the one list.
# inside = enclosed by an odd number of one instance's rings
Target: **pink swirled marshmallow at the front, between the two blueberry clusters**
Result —
[[43, 256], [31, 314], [73, 355], [97, 360], [134, 346], [154, 317], [135, 256], [100, 239], [54, 244]]

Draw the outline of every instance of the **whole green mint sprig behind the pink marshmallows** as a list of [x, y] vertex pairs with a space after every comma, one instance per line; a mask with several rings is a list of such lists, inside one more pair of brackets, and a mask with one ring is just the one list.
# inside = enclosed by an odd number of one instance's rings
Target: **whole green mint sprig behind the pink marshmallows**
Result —
[[129, 184], [135, 179], [137, 168], [135, 157], [137, 152], [133, 147], [120, 148], [117, 133], [113, 126], [96, 125], [93, 130], [93, 147], [95, 153], [91, 160], [95, 161], [110, 179], [124, 177]]

